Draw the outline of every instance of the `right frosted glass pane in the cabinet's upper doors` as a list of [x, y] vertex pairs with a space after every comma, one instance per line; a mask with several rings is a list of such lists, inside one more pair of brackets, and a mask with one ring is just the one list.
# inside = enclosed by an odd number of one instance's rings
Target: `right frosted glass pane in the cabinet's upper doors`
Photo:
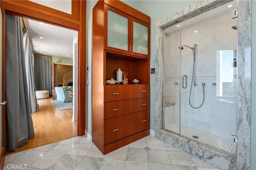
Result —
[[148, 55], [148, 27], [133, 21], [132, 52]]

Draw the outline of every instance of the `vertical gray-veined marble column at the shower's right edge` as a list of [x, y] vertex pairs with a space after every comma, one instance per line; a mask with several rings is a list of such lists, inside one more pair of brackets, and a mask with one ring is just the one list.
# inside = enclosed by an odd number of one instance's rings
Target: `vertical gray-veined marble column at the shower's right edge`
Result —
[[238, 0], [237, 169], [250, 169], [251, 129], [251, 0]]

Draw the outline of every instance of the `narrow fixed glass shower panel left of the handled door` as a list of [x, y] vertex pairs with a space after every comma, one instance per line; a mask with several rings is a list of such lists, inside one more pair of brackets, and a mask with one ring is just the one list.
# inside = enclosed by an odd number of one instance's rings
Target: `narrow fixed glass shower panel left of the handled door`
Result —
[[180, 25], [164, 29], [163, 129], [180, 134]]

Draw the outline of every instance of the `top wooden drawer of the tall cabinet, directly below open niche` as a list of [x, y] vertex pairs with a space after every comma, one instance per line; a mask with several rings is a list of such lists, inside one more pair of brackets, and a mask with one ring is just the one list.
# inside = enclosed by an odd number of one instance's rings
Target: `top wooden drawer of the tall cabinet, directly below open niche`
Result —
[[106, 85], [104, 86], [104, 102], [145, 98], [150, 96], [148, 84]]

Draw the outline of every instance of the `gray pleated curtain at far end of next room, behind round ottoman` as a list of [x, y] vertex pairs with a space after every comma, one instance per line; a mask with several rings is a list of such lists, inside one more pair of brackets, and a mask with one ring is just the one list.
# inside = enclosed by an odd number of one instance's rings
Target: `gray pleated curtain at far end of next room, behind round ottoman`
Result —
[[50, 57], [35, 57], [36, 90], [47, 90], [52, 94], [52, 67]]

